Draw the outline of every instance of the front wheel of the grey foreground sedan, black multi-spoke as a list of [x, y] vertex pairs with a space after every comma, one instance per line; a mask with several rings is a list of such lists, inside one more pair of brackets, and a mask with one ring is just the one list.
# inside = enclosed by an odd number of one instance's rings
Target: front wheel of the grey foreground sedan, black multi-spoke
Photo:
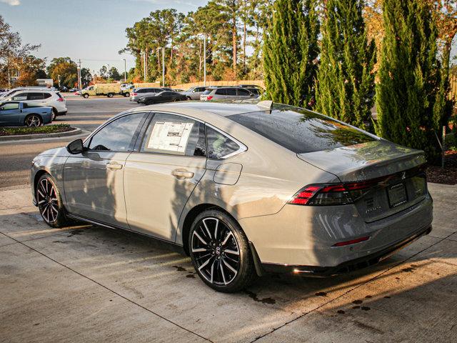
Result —
[[46, 224], [50, 227], [69, 225], [59, 189], [51, 175], [44, 174], [39, 178], [35, 186], [35, 196], [39, 212]]

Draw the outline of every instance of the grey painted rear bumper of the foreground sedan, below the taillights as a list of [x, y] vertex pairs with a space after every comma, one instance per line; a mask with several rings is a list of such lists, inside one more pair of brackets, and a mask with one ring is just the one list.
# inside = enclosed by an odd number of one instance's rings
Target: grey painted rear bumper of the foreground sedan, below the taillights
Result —
[[[396, 249], [398, 244], [427, 232], [432, 221], [429, 195], [408, 209], [371, 223], [365, 222], [353, 205], [286, 205], [276, 214], [238, 219], [266, 269], [278, 265], [299, 270], [331, 269], [329, 274], [354, 261], [369, 262], [380, 252]], [[369, 238], [335, 246], [361, 237]]]

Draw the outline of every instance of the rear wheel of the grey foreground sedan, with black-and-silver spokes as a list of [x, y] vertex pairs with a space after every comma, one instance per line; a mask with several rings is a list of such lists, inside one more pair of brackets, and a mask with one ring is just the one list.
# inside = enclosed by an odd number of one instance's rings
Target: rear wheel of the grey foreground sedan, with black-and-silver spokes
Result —
[[188, 244], [197, 274], [218, 292], [238, 292], [256, 277], [246, 234], [224, 212], [209, 209], [199, 214]]

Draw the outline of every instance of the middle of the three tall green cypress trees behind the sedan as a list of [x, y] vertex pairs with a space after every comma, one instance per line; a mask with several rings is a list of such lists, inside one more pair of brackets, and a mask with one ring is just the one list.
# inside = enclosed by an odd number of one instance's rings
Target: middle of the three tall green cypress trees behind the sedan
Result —
[[368, 42], [364, 1], [327, 0], [322, 24], [316, 110], [369, 129], [374, 103], [376, 45]]

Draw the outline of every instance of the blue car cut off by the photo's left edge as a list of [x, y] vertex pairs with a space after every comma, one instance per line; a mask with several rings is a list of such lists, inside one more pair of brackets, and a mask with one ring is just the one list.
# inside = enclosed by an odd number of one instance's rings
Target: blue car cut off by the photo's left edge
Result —
[[52, 121], [52, 107], [22, 101], [0, 103], [0, 126], [41, 126]]

